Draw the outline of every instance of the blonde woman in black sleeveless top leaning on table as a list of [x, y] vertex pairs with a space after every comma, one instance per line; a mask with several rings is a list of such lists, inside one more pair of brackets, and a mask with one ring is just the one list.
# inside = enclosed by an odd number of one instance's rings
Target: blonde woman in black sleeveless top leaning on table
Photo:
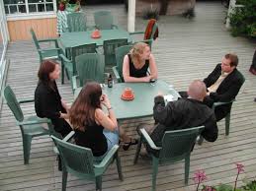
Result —
[[157, 79], [155, 59], [148, 44], [138, 42], [133, 45], [124, 58], [123, 76], [125, 82], [150, 82]]

